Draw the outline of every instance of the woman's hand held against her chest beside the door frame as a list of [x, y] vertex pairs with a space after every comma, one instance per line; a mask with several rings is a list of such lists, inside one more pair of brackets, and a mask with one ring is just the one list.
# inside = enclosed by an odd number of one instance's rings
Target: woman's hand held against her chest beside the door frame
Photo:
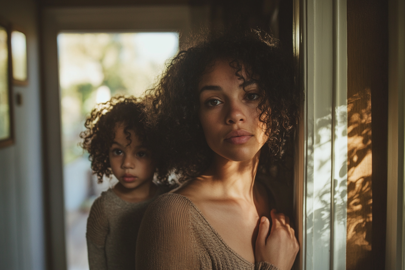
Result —
[[270, 215], [273, 225], [269, 237], [267, 234], [270, 221], [266, 217], [260, 219], [256, 240], [256, 261], [267, 261], [280, 270], [290, 270], [300, 249], [294, 229], [290, 227], [290, 219], [284, 214], [277, 214], [273, 209]]

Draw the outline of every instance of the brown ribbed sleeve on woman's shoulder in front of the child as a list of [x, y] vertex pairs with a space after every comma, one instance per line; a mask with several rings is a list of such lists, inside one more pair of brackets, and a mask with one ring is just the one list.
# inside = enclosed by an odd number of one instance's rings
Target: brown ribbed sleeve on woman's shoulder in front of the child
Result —
[[137, 270], [199, 269], [190, 225], [190, 203], [166, 193], [146, 210], [136, 243]]

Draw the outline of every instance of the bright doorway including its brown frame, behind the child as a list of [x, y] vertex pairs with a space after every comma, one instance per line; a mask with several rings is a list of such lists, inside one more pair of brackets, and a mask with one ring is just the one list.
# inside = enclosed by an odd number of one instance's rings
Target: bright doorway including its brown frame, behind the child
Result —
[[[151, 87], [164, 61], [177, 53], [182, 34], [189, 31], [190, 14], [208, 20], [205, 11], [186, 5], [43, 9], [47, 269], [88, 267], [83, 249], [86, 211], [94, 197], [113, 185], [108, 179], [105, 186], [96, 184], [90, 162], [77, 146], [85, 115], [110, 96], [139, 96]], [[136, 51], [142, 38], [144, 46]], [[105, 49], [105, 59], [89, 49], [94, 42]], [[173, 47], [167, 50], [169, 44]], [[79, 53], [79, 61], [65, 49]], [[140, 52], [142, 57], [136, 58]], [[71, 192], [74, 196], [68, 195]]]

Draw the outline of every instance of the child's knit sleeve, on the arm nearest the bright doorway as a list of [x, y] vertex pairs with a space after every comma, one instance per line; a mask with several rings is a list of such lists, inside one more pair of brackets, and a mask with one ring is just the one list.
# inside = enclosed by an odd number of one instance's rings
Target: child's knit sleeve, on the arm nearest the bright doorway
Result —
[[105, 239], [108, 234], [108, 219], [103, 200], [101, 196], [94, 201], [87, 219], [86, 240], [90, 270], [107, 270]]

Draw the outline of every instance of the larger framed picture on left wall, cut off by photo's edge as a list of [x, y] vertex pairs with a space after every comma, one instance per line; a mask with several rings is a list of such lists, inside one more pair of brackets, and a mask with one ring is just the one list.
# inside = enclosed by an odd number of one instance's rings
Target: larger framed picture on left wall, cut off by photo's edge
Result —
[[9, 28], [0, 21], [0, 147], [13, 144]]

